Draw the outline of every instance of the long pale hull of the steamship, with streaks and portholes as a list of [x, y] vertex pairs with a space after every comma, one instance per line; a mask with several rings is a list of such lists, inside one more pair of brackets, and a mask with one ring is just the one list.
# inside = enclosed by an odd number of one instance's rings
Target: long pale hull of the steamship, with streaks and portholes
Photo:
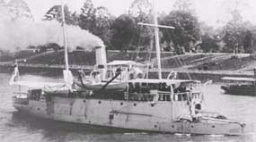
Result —
[[234, 122], [216, 120], [172, 121], [173, 112], [170, 103], [154, 104], [152, 106], [152, 104], [146, 102], [100, 99], [85, 100], [56, 97], [53, 100], [57, 101], [54, 101], [54, 103], [30, 101], [29, 104], [13, 104], [13, 106], [21, 113], [29, 113], [43, 119], [117, 129], [193, 135], [242, 135], [246, 131], [250, 131], [244, 125]]

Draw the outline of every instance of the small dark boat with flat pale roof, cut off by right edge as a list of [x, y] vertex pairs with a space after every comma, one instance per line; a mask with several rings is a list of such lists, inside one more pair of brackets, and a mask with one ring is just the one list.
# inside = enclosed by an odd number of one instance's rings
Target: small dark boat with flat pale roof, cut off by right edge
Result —
[[225, 94], [240, 96], [256, 96], [256, 79], [224, 77], [225, 81], [231, 81], [230, 84], [221, 86]]

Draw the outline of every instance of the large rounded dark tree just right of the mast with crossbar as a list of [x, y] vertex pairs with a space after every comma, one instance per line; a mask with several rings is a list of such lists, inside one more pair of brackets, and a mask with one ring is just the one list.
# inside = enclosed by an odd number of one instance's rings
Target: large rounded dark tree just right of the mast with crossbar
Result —
[[175, 28], [161, 29], [163, 32], [162, 41], [170, 43], [172, 40], [175, 50], [181, 50], [180, 48], [183, 47], [186, 52], [190, 52], [200, 39], [199, 20], [190, 12], [172, 11], [160, 23]]

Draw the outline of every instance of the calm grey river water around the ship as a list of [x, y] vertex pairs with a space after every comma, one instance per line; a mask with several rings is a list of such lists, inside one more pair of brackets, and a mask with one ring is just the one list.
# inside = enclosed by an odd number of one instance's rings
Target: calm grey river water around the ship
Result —
[[[256, 141], [256, 96], [228, 96], [213, 84], [204, 89], [206, 107], [230, 119], [253, 123], [252, 134], [245, 136], [189, 136], [163, 133], [119, 131], [101, 127], [81, 126], [66, 122], [46, 121], [16, 113], [13, 92], [19, 88], [8, 85], [10, 75], [0, 73], [0, 141], [1, 142], [94, 142], [94, 141], [179, 141], [179, 142], [251, 142]], [[23, 75], [22, 79], [61, 81], [50, 77]]]

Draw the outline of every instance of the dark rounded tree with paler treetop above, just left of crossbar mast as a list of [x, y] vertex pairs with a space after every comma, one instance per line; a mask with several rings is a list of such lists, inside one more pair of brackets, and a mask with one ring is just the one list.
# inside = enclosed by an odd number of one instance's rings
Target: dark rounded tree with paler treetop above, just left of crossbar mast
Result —
[[135, 0], [129, 7], [128, 14], [120, 15], [111, 26], [114, 49], [142, 50], [149, 49], [154, 36], [152, 27], [138, 25], [138, 22], [152, 23], [152, 5], [148, 0]]

